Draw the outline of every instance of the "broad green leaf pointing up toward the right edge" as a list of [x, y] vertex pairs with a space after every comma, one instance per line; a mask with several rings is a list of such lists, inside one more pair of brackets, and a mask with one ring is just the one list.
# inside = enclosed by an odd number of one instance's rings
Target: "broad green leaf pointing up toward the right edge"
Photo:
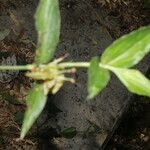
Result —
[[114, 67], [132, 67], [150, 51], [150, 26], [133, 31], [110, 45], [101, 62]]

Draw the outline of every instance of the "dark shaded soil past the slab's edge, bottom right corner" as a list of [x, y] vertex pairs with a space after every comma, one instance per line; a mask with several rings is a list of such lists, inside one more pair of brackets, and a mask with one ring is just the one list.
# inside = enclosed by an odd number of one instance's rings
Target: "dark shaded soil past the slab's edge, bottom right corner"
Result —
[[150, 149], [150, 98], [136, 97], [106, 150]]

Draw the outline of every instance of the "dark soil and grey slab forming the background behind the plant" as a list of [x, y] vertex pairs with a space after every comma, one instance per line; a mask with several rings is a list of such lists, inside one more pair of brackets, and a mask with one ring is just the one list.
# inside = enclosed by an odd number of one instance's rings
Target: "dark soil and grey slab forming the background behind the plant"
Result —
[[[68, 60], [87, 61], [116, 38], [150, 22], [150, 10], [143, 1], [130, 1], [128, 5], [116, 2], [113, 7], [101, 6], [97, 0], [60, 2], [62, 31], [56, 57], [69, 53]], [[33, 62], [37, 4], [38, 0], [0, 1], [0, 32], [4, 34], [3, 39], [0, 37], [0, 63], [2, 58], [6, 64]], [[148, 62], [149, 57], [138, 66], [144, 73]], [[7, 71], [0, 75], [0, 150], [150, 149], [149, 98], [131, 95], [113, 77], [100, 96], [86, 103], [85, 70], [75, 75], [77, 84], [66, 84], [56, 96], [49, 95], [46, 108], [26, 139], [16, 140], [27, 91], [34, 82], [24, 73]]]

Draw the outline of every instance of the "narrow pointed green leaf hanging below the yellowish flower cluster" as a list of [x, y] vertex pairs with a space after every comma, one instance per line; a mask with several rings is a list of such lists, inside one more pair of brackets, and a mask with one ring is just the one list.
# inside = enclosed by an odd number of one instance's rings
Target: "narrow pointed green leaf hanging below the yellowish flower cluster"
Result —
[[44, 93], [44, 85], [36, 84], [30, 91], [26, 100], [27, 110], [22, 125], [21, 136], [23, 139], [33, 123], [36, 121], [46, 104], [47, 96]]

